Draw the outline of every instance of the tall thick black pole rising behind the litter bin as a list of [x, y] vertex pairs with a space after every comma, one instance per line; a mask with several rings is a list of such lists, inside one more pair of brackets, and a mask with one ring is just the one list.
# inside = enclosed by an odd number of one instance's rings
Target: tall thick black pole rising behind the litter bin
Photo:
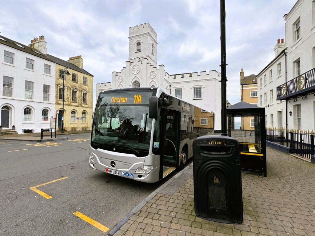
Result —
[[221, 16], [221, 135], [227, 136], [226, 127], [226, 50], [225, 50], [225, 0], [220, 1]]

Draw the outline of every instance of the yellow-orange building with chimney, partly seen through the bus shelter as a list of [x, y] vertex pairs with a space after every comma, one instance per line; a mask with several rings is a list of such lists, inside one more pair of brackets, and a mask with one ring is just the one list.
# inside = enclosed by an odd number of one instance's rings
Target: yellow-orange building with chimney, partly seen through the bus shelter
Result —
[[[258, 105], [257, 98], [257, 79], [255, 75], [244, 76], [243, 69], [241, 76], [241, 101]], [[253, 130], [255, 126], [254, 117], [243, 117], [241, 120], [241, 130]], [[238, 129], [235, 127], [235, 129]]]

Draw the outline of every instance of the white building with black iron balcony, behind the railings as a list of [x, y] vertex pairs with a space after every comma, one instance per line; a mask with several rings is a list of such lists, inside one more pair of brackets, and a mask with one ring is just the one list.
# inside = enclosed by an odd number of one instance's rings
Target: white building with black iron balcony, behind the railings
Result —
[[315, 130], [315, 1], [298, 0], [285, 20], [285, 42], [258, 75], [266, 126]]

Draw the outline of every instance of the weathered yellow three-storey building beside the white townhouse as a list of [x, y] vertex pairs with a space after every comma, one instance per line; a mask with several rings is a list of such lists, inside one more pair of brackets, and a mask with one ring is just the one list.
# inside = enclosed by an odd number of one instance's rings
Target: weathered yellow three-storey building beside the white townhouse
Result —
[[81, 55], [70, 57], [68, 61], [58, 60], [55, 94], [55, 109], [59, 113], [58, 129], [62, 130], [63, 123], [64, 131], [91, 130], [93, 75], [83, 69]]

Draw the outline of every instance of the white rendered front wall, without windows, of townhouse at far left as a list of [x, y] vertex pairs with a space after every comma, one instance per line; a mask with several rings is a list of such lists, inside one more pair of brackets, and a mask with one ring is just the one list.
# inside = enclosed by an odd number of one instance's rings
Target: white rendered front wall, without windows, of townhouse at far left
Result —
[[[14, 65], [3, 63], [4, 50], [14, 53]], [[26, 57], [34, 60], [34, 70], [25, 69]], [[51, 66], [50, 75], [43, 73], [44, 64]], [[5, 105], [10, 108], [9, 128], [15, 125], [18, 133], [21, 133], [22, 129], [34, 129], [34, 132], [40, 132], [41, 128], [50, 128], [50, 117], [55, 117], [55, 64], [0, 44], [0, 81], [2, 82], [3, 76], [13, 77], [12, 97], [3, 96], [3, 86], [0, 87], [0, 109]], [[25, 99], [25, 81], [34, 82], [32, 99]], [[50, 86], [49, 102], [43, 101], [44, 84]], [[23, 121], [26, 107], [32, 109], [32, 121]], [[42, 122], [44, 108], [49, 110], [49, 121]]]

